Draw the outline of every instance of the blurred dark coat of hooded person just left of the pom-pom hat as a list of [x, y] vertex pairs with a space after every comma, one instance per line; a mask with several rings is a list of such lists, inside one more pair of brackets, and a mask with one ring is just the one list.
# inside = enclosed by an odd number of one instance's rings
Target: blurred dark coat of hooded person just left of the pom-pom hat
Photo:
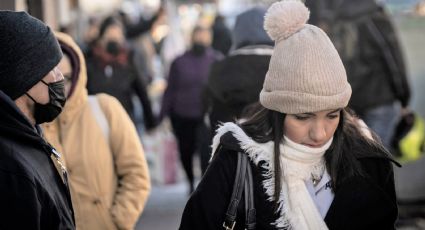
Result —
[[212, 129], [234, 121], [246, 106], [258, 102], [273, 47], [247, 46], [211, 66], [206, 86], [206, 107]]

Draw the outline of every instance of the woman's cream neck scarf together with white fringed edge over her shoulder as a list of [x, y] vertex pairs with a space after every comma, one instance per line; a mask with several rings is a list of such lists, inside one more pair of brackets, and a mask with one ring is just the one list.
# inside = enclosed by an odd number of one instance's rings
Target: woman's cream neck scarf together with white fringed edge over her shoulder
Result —
[[[213, 155], [220, 144], [220, 138], [227, 132], [239, 141], [241, 148], [257, 166], [265, 169], [263, 187], [268, 200], [274, 200], [274, 166], [273, 141], [257, 143], [248, 137], [236, 124], [224, 123], [217, 129], [213, 139]], [[278, 219], [271, 223], [278, 229], [288, 230], [316, 230], [328, 229], [317, 207], [312, 200], [305, 181], [312, 177], [319, 178], [325, 170], [324, 157], [326, 150], [332, 144], [329, 140], [320, 148], [309, 148], [296, 144], [285, 137], [285, 144], [280, 146], [282, 165], [282, 191], [278, 202]]]

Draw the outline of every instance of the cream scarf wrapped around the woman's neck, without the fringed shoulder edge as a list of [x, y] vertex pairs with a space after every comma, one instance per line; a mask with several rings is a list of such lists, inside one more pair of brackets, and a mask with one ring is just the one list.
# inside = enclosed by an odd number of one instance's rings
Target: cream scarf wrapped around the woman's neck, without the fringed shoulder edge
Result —
[[286, 136], [284, 138], [280, 163], [283, 174], [281, 195], [286, 204], [283, 210], [285, 218], [293, 230], [328, 229], [307, 190], [305, 181], [322, 176], [325, 170], [323, 155], [332, 144], [333, 138], [319, 148], [297, 144]]

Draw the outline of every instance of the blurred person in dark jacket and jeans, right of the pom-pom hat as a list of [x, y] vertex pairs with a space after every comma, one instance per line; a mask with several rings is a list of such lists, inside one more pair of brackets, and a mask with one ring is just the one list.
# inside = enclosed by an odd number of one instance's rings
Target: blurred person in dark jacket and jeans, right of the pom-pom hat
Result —
[[353, 88], [349, 106], [390, 147], [410, 87], [390, 16], [375, 0], [307, 0], [328, 31]]

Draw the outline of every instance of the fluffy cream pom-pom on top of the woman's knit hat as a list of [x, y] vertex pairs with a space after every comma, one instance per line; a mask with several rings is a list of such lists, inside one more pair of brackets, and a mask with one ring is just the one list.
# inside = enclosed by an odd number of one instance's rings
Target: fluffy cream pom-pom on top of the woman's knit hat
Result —
[[273, 3], [264, 16], [264, 29], [271, 39], [286, 39], [301, 30], [310, 17], [310, 11], [299, 0]]

